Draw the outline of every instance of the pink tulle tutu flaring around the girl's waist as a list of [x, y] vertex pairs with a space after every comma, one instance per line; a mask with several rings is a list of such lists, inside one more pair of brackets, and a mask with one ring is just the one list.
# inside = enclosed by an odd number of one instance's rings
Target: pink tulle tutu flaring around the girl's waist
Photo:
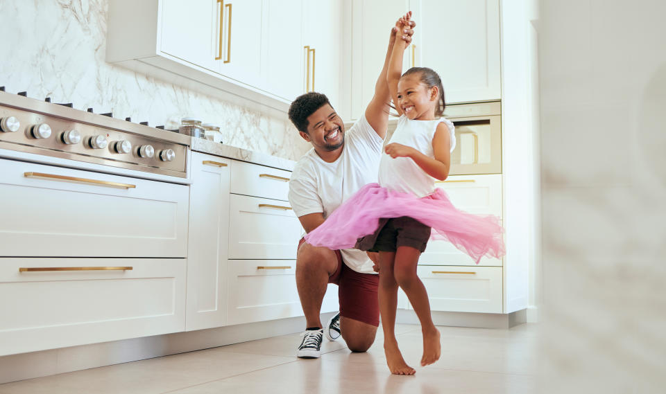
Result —
[[483, 256], [504, 256], [504, 229], [492, 215], [473, 215], [451, 204], [446, 193], [437, 189], [418, 198], [409, 193], [369, 183], [339, 206], [305, 240], [316, 247], [353, 248], [359, 238], [373, 234], [382, 217], [409, 216], [432, 227], [432, 240], [447, 240], [479, 264]]

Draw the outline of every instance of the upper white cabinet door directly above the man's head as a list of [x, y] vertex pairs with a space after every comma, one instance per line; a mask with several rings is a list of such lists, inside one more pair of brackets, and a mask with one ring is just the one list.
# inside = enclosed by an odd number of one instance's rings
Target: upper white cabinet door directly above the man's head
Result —
[[[338, 109], [340, 102], [342, 2], [337, 0], [305, 1], [303, 8], [302, 87], [300, 93], [324, 93]], [[309, 57], [308, 57], [309, 51]], [[309, 61], [308, 61], [309, 60]]]

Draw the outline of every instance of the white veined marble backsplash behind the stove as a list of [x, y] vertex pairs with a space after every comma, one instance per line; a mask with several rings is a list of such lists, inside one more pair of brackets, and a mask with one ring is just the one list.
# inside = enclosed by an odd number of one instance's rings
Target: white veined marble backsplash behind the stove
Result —
[[109, 0], [0, 1], [0, 86], [176, 129], [191, 116], [220, 125], [224, 143], [297, 160], [309, 143], [284, 117], [136, 73], [105, 61]]

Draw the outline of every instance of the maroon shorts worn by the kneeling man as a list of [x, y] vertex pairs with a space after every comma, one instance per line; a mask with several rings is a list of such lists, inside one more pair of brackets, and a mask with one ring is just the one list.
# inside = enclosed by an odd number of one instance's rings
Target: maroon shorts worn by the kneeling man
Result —
[[[305, 242], [301, 239], [298, 247]], [[339, 250], [334, 251], [338, 258], [338, 267], [329, 276], [328, 283], [338, 285], [338, 302], [340, 316], [362, 321], [375, 327], [379, 326], [379, 300], [377, 287], [379, 275], [361, 274], [354, 271], [342, 261]]]

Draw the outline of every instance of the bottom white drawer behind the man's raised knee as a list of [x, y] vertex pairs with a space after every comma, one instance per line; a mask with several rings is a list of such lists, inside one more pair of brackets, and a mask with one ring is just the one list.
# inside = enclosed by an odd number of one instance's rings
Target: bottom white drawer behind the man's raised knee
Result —
[[[338, 310], [338, 287], [328, 285], [321, 312]], [[229, 260], [229, 325], [302, 316], [296, 260]]]

